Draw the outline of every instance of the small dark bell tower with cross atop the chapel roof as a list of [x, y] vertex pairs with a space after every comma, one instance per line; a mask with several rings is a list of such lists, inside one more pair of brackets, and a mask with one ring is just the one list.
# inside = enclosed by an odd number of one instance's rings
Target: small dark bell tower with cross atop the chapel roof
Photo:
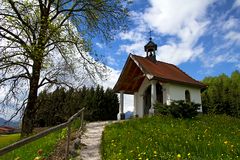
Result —
[[156, 62], [157, 45], [152, 41], [151, 31], [149, 42], [144, 46], [144, 50], [146, 52], [146, 57], [152, 60], [153, 62]]

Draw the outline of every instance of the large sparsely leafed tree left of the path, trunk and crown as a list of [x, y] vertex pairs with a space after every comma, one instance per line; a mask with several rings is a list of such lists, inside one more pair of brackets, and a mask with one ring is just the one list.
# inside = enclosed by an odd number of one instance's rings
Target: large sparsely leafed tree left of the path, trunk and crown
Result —
[[[91, 37], [109, 40], [124, 29], [126, 2], [119, 0], [0, 0], [2, 105], [24, 109], [22, 136], [32, 133], [38, 90], [79, 86], [103, 76]], [[125, 3], [125, 4], [124, 4]], [[78, 69], [78, 70], [76, 70]], [[78, 72], [77, 72], [78, 71]], [[81, 76], [80, 76], [81, 75]], [[86, 77], [87, 75], [87, 77]], [[24, 97], [26, 100], [23, 100]]]

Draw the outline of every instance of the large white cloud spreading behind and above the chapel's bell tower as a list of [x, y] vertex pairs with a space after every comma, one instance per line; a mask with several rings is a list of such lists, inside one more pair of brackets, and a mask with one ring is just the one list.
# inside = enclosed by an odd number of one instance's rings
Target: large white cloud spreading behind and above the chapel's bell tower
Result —
[[156, 38], [161, 39], [161, 36], [166, 35], [176, 37], [158, 47], [159, 60], [174, 64], [193, 60], [203, 53], [202, 46], [196, 44], [209, 24], [205, 14], [213, 2], [214, 0], [149, 0], [150, 7], [144, 12], [132, 12], [132, 20], [137, 26], [120, 34], [123, 40], [132, 43], [120, 46], [120, 51], [143, 55], [146, 30], [151, 28]]

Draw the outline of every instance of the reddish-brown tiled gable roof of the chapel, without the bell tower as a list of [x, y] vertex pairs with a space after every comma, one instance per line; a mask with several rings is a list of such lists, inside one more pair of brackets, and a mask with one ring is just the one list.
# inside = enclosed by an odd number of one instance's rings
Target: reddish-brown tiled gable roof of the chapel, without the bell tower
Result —
[[114, 90], [132, 94], [138, 91], [146, 75], [150, 75], [151, 78], [148, 77], [148, 79], [157, 79], [161, 82], [179, 83], [198, 88], [206, 87], [173, 64], [153, 62], [149, 58], [130, 54]]

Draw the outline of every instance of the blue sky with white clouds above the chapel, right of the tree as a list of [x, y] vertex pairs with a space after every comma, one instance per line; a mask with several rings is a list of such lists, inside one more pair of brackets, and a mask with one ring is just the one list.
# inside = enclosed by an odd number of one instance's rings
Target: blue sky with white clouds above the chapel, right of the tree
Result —
[[133, 0], [129, 30], [95, 50], [113, 72], [129, 53], [145, 56], [152, 30], [157, 59], [173, 63], [197, 80], [240, 70], [240, 0]]

